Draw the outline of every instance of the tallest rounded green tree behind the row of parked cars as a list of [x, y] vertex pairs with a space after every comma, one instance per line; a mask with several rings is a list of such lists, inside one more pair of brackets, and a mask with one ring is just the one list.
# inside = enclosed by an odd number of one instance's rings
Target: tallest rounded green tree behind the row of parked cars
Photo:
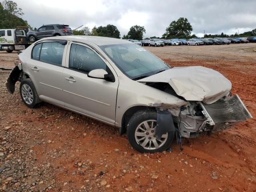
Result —
[[187, 18], [180, 17], [177, 21], [172, 21], [166, 28], [164, 37], [168, 38], [187, 38], [190, 36], [193, 28]]

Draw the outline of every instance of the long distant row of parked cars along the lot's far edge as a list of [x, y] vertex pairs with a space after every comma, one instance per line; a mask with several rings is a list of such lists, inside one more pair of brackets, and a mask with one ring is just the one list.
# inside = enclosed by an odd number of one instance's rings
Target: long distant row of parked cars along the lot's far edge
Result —
[[[130, 40], [131, 41], [131, 40]], [[192, 39], [149, 39], [140, 40], [142, 46], [164, 46], [164, 45], [224, 45], [231, 43], [256, 42], [256, 37], [248, 38], [192, 38]]]

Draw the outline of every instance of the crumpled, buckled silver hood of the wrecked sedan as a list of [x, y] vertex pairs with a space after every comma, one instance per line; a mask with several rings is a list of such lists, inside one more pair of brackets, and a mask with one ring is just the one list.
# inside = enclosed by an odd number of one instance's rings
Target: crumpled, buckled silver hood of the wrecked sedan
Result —
[[231, 82], [222, 74], [202, 66], [174, 67], [138, 82], [166, 82], [184, 99], [205, 104], [214, 103], [232, 88]]

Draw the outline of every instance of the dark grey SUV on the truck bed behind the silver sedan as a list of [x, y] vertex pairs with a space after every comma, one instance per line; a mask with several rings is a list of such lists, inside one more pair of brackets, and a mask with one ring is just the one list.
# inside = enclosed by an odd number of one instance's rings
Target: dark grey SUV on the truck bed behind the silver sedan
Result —
[[30, 42], [35, 42], [38, 39], [44, 37], [53, 37], [53, 36], [64, 36], [64, 35], [73, 35], [72, 29], [68, 25], [62, 24], [52, 24], [52, 25], [43, 25], [38, 28], [36, 31], [30, 31], [27, 33], [27, 38]]

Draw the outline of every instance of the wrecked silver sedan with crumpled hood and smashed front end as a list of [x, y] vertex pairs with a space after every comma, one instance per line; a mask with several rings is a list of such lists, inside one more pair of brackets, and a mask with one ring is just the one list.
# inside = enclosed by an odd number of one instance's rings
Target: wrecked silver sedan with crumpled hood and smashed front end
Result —
[[6, 81], [29, 108], [49, 102], [127, 134], [139, 152], [252, 118], [231, 82], [201, 66], [171, 68], [141, 46], [94, 36], [44, 38], [19, 55]]

